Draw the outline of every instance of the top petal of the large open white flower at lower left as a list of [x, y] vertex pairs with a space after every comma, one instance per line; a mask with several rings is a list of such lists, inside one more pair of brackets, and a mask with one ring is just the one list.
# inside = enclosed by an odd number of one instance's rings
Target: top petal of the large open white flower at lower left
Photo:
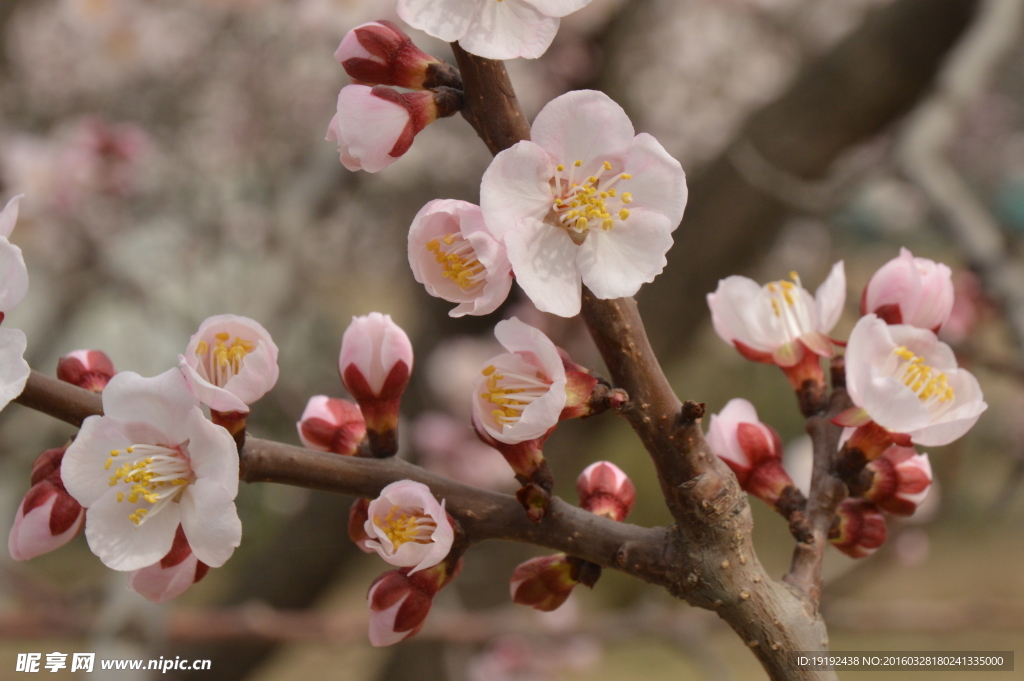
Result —
[[[120, 372], [103, 389], [103, 414], [125, 424], [128, 436], [137, 437], [139, 444], [180, 444], [188, 437], [184, 427], [188, 413], [198, 406], [178, 369], [153, 378]], [[136, 431], [142, 428], [159, 432], [162, 441], [141, 437]]]

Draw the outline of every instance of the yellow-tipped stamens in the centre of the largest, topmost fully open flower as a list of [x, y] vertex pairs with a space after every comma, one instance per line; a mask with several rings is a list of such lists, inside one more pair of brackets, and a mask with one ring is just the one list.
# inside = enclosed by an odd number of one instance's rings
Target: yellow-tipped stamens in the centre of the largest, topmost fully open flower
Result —
[[618, 193], [613, 187], [620, 180], [632, 179], [629, 173], [618, 173], [611, 177], [603, 177], [611, 170], [611, 164], [605, 161], [596, 175], [587, 178], [577, 178], [578, 169], [583, 161], [572, 164], [567, 175], [565, 166], [555, 167], [554, 184], [551, 187], [554, 203], [551, 207], [558, 226], [564, 228], [572, 243], [579, 246], [587, 239], [591, 228], [600, 226], [604, 230], [615, 226], [616, 220], [622, 222], [630, 216], [625, 206], [633, 202], [629, 191]]

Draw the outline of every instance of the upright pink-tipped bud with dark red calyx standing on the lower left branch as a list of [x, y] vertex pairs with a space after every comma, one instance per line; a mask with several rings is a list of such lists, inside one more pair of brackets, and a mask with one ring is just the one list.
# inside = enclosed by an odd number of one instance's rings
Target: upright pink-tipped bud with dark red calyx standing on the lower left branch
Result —
[[359, 403], [375, 457], [398, 451], [398, 407], [413, 371], [413, 344], [388, 314], [352, 317], [341, 339], [338, 369]]

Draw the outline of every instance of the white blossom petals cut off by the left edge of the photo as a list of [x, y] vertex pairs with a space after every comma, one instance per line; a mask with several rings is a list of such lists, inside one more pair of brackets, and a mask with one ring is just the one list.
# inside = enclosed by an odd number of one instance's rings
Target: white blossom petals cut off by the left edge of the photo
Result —
[[[29, 292], [29, 270], [22, 249], [7, 241], [17, 221], [17, 195], [0, 211], [0, 323]], [[25, 360], [27, 340], [19, 329], [0, 329], [0, 410], [22, 394], [31, 369]]]

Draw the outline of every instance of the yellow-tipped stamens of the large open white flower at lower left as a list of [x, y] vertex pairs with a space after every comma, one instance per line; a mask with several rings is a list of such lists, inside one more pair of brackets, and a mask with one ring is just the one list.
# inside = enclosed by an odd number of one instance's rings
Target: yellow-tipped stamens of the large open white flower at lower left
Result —
[[127, 494], [118, 492], [118, 502], [137, 504], [141, 499], [153, 504], [148, 509], [137, 508], [128, 519], [140, 525], [168, 504], [177, 501], [184, 488], [196, 480], [188, 458], [180, 450], [159, 444], [132, 444], [124, 450], [112, 450], [103, 470], [110, 470], [122, 454], [134, 457], [115, 469], [111, 486], [124, 484]]

